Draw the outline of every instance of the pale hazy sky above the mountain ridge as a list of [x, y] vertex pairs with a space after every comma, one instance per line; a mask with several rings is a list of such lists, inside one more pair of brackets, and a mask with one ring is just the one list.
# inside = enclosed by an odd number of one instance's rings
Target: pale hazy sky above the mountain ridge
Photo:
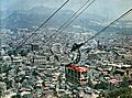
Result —
[[[57, 8], [66, 0], [0, 0], [2, 9], [30, 9], [36, 6]], [[76, 11], [87, 0], [70, 0], [64, 9]], [[91, 1], [91, 0], [90, 0]], [[132, 8], [132, 0], [96, 0], [86, 13], [114, 19]], [[132, 13], [128, 17], [132, 18]]]

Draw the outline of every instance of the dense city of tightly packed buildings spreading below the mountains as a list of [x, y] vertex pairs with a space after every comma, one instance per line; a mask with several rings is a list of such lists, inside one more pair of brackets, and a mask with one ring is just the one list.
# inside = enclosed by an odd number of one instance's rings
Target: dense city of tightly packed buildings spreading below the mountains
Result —
[[[50, 28], [50, 32], [56, 29]], [[64, 33], [59, 41], [45, 46], [46, 32], [14, 53], [28, 29], [20, 29], [14, 36], [10, 30], [1, 32], [0, 96], [1, 98], [112, 98], [124, 94], [131, 98], [132, 84], [132, 35], [114, 34], [107, 42], [92, 40], [78, 52], [67, 56], [73, 42], [81, 42], [94, 33]], [[80, 37], [81, 36], [81, 37]], [[116, 36], [120, 36], [117, 37]], [[18, 41], [19, 37], [19, 41]], [[13, 41], [13, 42], [11, 42]], [[18, 41], [18, 42], [16, 42]], [[37, 41], [37, 43], [36, 43]], [[120, 43], [119, 43], [120, 42]], [[41, 47], [42, 46], [42, 47]], [[111, 91], [111, 89], [114, 89]], [[106, 97], [107, 96], [107, 97]], [[114, 98], [117, 98], [114, 97]]]

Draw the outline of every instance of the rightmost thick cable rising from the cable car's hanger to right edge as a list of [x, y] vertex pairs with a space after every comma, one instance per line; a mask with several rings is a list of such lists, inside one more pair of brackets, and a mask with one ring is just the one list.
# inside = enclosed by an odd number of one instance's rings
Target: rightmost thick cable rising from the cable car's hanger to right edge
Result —
[[110, 25], [112, 25], [113, 23], [116, 23], [117, 21], [119, 21], [120, 19], [124, 18], [125, 15], [128, 15], [130, 12], [132, 11], [132, 9], [128, 10], [125, 13], [123, 13], [121, 17], [117, 18], [114, 21], [112, 21], [111, 23], [109, 23], [107, 26], [105, 26], [102, 30], [100, 30], [98, 33], [96, 33], [94, 36], [91, 36], [90, 39], [88, 39], [87, 41], [85, 41], [84, 43], [78, 44], [75, 48], [73, 48], [70, 52], [76, 51], [78, 48], [80, 48], [82, 45], [85, 45], [86, 43], [88, 43], [90, 40], [92, 40], [94, 37], [96, 37], [97, 35], [99, 35], [101, 32], [106, 31]]

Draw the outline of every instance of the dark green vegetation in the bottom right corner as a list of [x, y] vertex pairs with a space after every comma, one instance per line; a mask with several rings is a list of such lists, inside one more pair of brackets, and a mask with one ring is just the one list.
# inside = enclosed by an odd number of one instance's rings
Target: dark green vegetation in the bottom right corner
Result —
[[105, 89], [100, 92], [98, 98], [132, 98], [132, 88], [129, 87], [128, 78], [124, 77], [123, 81], [119, 85], [110, 85], [107, 83], [100, 83], [95, 86], [96, 89]]

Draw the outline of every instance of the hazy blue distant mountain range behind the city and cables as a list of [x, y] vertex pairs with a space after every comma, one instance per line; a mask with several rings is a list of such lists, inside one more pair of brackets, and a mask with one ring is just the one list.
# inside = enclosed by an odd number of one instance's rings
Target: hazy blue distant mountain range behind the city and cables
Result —
[[[55, 9], [50, 9], [46, 7], [35, 7], [30, 10], [13, 10], [9, 11], [9, 17], [2, 17], [1, 19], [1, 28], [7, 28], [10, 30], [18, 30], [20, 28], [32, 29], [33, 26], [40, 25], [43, 21], [45, 21]], [[0, 11], [2, 13], [2, 11]], [[8, 11], [7, 11], [8, 12]], [[70, 10], [61, 10], [54, 18], [50, 20], [46, 24], [47, 26], [61, 26], [65, 21], [67, 21], [75, 12]], [[91, 29], [95, 31], [99, 31], [106, 24], [107, 19], [103, 17], [99, 17], [97, 14], [81, 14], [77, 20], [73, 22], [72, 25], [80, 25], [82, 28]], [[130, 21], [129, 21], [130, 22]], [[125, 25], [127, 23], [123, 22]], [[122, 23], [122, 24], [123, 24]], [[132, 23], [132, 21], [131, 21]], [[119, 25], [119, 24], [118, 24]], [[117, 30], [118, 26], [112, 26], [111, 30]], [[120, 29], [118, 29], [120, 30]]]

